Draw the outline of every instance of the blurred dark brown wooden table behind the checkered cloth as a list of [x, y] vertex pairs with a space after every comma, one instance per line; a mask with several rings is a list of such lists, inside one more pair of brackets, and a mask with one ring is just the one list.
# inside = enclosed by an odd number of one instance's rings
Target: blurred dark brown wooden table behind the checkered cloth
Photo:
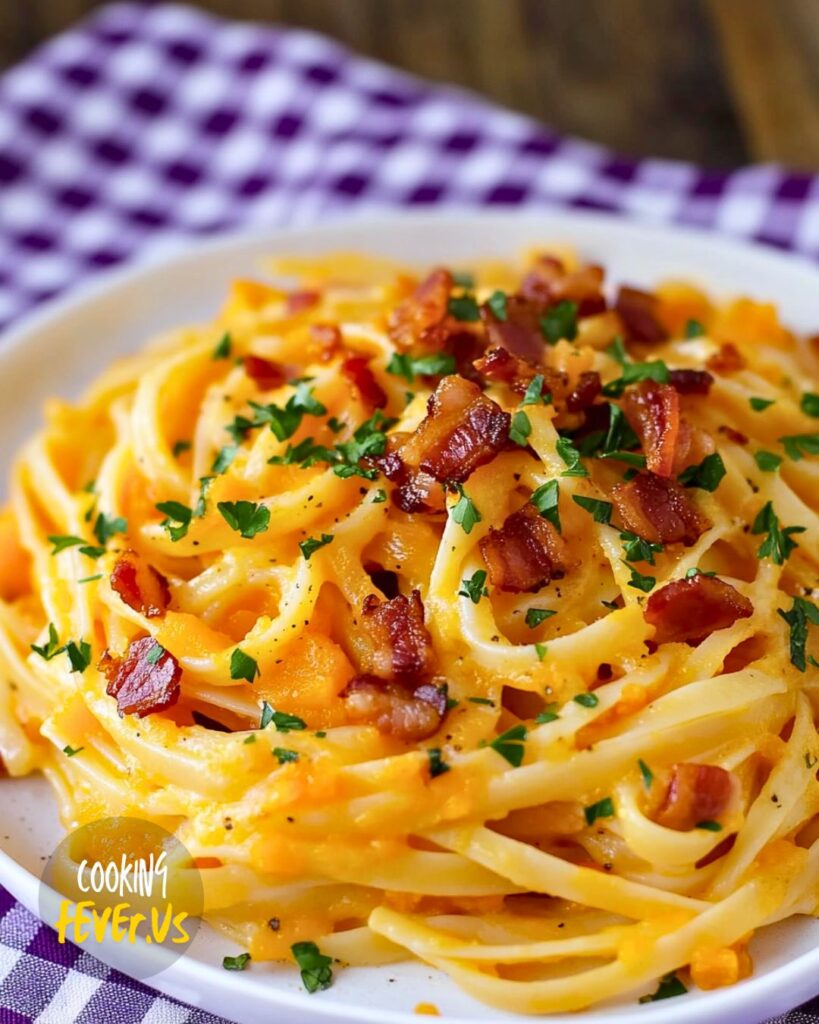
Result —
[[[0, 66], [98, 6], [0, 0]], [[204, 0], [635, 156], [819, 170], [819, 0]]]

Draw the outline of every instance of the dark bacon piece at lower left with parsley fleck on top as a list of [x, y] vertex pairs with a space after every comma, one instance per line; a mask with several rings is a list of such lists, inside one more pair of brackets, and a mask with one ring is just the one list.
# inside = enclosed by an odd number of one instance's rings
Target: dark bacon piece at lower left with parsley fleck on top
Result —
[[117, 698], [117, 711], [144, 718], [165, 711], [179, 699], [182, 669], [170, 651], [163, 650], [156, 662], [147, 659], [157, 646], [154, 637], [132, 640], [123, 660], [105, 651], [99, 670], [109, 680], [105, 692]]

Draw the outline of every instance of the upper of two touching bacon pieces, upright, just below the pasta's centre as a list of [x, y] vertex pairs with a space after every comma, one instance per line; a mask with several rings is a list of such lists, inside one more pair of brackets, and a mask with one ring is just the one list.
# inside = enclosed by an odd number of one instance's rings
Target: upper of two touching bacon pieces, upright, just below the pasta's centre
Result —
[[382, 601], [375, 594], [364, 599], [361, 625], [370, 641], [364, 652], [376, 676], [418, 682], [432, 672], [432, 637], [424, 626], [424, 604], [419, 591]]

